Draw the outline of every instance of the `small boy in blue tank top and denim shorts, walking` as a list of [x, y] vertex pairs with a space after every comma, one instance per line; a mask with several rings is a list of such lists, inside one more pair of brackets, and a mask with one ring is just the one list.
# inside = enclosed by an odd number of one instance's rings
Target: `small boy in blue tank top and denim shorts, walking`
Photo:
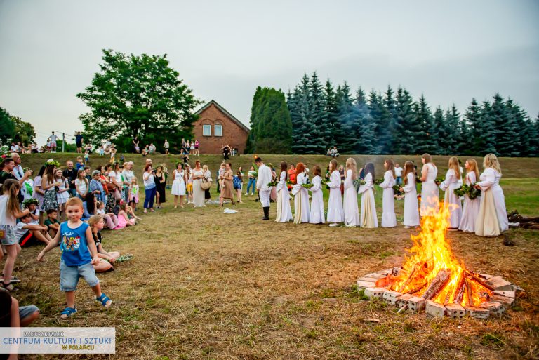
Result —
[[60, 290], [65, 293], [67, 307], [62, 310], [61, 319], [68, 319], [76, 313], [75, 290], [79, 278], [83, 277], [104, 307], [109, 307], [112, 300], [101, 292], [99, 279], [95, 276], [92, 265], [98, 265], [98, 249], [95, 247], [90, 226], [81, 221], [83, 212], [82, 200], [72, 197], [65, 204], [67, 222], [62, 222], [60, 230], [53, 241], [48, 243], [39, 255], [37, 261], [43, 260], [48, 251], [60, 243], [62, 258], [60, 260]]

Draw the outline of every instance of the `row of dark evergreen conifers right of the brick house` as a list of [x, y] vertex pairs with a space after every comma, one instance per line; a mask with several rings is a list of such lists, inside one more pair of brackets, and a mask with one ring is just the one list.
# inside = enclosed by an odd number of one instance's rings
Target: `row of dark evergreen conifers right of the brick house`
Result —
[[[264, 139], [258, 129], [267, 128], [265, 121], [288, 128], [286, 114], [279, 114], [277, 121], [259, 115], [265, 112], [260, 91], [253, 97], [255, 133], [250, 149], [258, 149], [257, 138]], [[455, 105], [433, 110], [424, 95], [414, 100], [404, 87], [394, 91], [388, 86], [383, 93], [359, 88], [352, 94], [346, 82], [335, 88], [328, 79], [322, 85], [314, 72], [288, 91], [286, 106], [291, 138], [279, 134], [279, 142], [291, 146], [281, 153], [324, 154], [333, 146], [341, 154], [538, 156], [539, 152], [539, 115], [532, 120], [517, 102], [498, 93], [481, 103], [472, 99], [460, 114]]]

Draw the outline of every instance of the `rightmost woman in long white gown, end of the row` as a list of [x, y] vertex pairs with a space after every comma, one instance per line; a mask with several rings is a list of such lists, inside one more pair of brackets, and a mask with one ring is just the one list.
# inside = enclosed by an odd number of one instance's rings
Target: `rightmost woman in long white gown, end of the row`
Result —
[[481, 206], [475, 222], [478, 236], [498, 236], [509, 228], [505, 196], [500, 187], [502, 169], [495, 154], [486, 154], [483, 160], [484, 171], [475, 187], [481, 189]]

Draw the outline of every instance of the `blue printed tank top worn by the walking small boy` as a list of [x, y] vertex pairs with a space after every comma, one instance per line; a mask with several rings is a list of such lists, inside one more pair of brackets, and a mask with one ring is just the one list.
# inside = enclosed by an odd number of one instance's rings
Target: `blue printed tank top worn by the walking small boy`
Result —
[[67, 221], [60, 225], [60, 251], [67, 266], [81, 266], [92, 261], [92, 255], [86, 243], [88, 224], [83, 222], [76, 229], [67, 226]]

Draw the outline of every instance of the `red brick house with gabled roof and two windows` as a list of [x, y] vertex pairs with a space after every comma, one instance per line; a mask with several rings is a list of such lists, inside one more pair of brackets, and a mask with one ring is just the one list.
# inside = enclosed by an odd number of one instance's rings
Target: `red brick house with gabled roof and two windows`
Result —
[[194, 123], [194, 138], [199, 140], [201, 154], [221, 154], [223, 144], [236, 147], [243, 154], [249, 128], [215, 100], [211, 100], [194, 113], [199, 119]]

